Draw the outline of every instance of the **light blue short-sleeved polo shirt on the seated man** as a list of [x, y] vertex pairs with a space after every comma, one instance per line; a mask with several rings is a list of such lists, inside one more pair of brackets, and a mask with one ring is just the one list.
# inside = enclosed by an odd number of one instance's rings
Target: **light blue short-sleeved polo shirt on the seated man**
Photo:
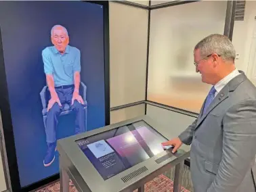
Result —
[[73, 85], [74, 72], [81, 71], [81, 53], [68, 45], [62, 55], [56, 47], [46, 47], [42, 51], [45, 74], [54, 76], [54, 86]]

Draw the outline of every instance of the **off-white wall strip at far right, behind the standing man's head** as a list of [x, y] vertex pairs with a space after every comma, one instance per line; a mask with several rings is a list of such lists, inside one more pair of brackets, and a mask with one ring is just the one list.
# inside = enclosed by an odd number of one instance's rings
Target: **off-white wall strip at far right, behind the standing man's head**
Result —
[[[244, 11], [244, 21], [234, 22], [232, 43], [236, 53], [240, 55], [236, 59], [236, 67], [243, 70], [249, 78], [252, 78], [253, 62], [250, 62], [251, 43], [253, 40], [253, 30], [255, 28], [256, 1], [246, 1]], [[255, 31], [256, 32], [256, 31]], [[254, 52], [255, 53], [255, 52]], [[252, 55], [251, 55], [252, 56]]]

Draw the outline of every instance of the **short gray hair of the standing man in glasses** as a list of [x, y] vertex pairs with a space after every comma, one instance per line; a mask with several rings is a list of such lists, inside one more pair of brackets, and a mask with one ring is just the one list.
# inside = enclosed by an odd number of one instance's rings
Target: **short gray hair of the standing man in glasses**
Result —
[[223, 60], [232, 60], [236, 58], [236, 50], [230, 39], [222, 34], [211, 34], [196, 44], [194, 49], [200, 50], [201, 58], [207, 57], [213, 53], [220, 55]]

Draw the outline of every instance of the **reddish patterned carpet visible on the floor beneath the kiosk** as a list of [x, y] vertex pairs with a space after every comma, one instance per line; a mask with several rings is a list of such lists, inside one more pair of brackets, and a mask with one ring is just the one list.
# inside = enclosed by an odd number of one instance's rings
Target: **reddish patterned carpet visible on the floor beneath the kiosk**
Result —
[[[154, 178], [152, 181], [146, 183], [145, 192], [171, 192], [173, 191], [173, 181], [169, 179], [167, 176], [161, 174]], [[37, 190], [36, 192], [58, 192], [60, 191], [60, 183], [56, 182], [47, 187]], [[74, 187], [72, 182], [69, 183], [69, 191], [77, 192], [77, 189]], [[137, 192], [135, 190], [134, 192]], [[181, 192], [190, 192], [184, 187], [182, 187]]]

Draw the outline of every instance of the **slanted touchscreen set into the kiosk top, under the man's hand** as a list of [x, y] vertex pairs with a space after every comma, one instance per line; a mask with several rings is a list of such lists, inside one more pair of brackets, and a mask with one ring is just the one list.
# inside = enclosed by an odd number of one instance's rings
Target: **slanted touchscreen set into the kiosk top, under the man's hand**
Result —
[[164, 149], [165, 137], [143, 120], [76, 141], [104, 180]]

